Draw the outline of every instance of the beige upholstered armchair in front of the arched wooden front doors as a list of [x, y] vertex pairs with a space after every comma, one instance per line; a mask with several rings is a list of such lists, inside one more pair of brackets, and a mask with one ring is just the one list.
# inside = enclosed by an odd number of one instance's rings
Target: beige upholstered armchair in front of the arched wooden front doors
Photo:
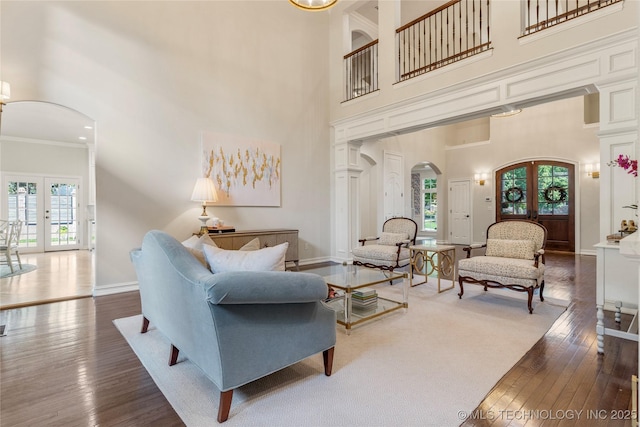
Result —
[[[547, 229], [533, 221], [502, 221], [487, 229], [487, 242], [463, 248], [467, 258], [458, 262], [458, 283], [487, 288], [507, 288], [528, 294], [529, 313], [533, 313], [533, 291], [540, 288], [544, 301], [544, 245]], [[470, 257], [473, 249], [486, 247], [484, 256]]]

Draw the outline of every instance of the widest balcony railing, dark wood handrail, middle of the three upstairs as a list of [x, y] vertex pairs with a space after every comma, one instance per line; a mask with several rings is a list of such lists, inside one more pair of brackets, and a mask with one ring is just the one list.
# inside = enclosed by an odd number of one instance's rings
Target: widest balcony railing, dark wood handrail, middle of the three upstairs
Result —
[[398, 28], [398, 81], [491, 47], [490, 0], [454, 0]]

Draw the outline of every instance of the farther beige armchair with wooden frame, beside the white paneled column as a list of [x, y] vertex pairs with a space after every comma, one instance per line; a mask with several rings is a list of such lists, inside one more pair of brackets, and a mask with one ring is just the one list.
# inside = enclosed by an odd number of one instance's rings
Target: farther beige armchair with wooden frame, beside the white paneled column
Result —
[[353, 264], [393, 271], [409, 265], [409, 246], [416, 243], [418, 224], [411, 218], [390, 218], [378, 237], [360, 239], [353, 248]]

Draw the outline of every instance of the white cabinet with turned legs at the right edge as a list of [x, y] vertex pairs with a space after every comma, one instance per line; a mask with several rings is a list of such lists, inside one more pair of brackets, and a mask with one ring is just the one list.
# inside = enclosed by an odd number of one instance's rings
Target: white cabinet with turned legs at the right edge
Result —
[[[604, 353], [605, 335], [638, 341], [638, 267], [620, 254], [619, 243], [598, 243], [596, 251], [596, 333], [598, 353]], [[605, 311], [615, 313], [613, 325], [605, 321]], [[622, 313], [633, 315], [626, 329], [618, 326]]]

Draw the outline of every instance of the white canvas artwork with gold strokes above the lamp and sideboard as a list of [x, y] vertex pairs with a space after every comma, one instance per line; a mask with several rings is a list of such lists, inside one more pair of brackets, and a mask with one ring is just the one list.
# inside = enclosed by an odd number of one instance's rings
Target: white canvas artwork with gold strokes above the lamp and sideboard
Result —
[[217, 206], [280, 206], [280, 144], [202, 133], [202, 174], [216, 183]]

